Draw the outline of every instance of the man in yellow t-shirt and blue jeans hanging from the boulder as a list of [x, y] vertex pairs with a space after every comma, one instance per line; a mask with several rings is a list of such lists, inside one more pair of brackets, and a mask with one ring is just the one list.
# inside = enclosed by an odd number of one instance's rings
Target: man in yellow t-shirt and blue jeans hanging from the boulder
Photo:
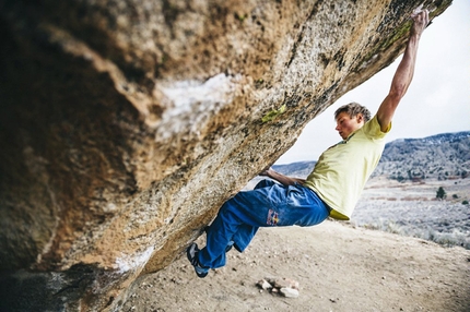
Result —
[[224, 203], [207, 229], [207, 245], [199, 250], [192, 243], [187, 250], [199, 277], [205, 277], [210, 268], [224, 266], [225, 253], [232, 247], [243, 252], [259, 227], [314, 226], [328, 216], [344, 220], [351, 217], [365, 182], [380, 159], [395, 110], [411, 83], [418, 44], [427, 24], [426, 11], [414, 16], [389, 94], [374, 118], [355, 103], [336, 111], [336, 130], [343, 141], [324, 152], [306, 180], [267, 169], [260, 176], [279, 183], [262, 180], [252, 191], [239, 192]]

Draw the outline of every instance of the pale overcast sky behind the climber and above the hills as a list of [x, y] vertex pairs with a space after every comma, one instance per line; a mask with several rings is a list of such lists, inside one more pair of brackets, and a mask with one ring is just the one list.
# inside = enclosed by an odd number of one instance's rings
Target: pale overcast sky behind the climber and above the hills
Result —
[[[393, 116], [387, 142], [470, 131], [470, 1], [454, 3], [424, 31], [414, 76]], [[350, 91], [303, 130], [294, 146], [277, 164], [317, 160], [341, 137], [334, 111], [357, 101], [374, 115], [390, 88], [401, 56], [388, 68]]]

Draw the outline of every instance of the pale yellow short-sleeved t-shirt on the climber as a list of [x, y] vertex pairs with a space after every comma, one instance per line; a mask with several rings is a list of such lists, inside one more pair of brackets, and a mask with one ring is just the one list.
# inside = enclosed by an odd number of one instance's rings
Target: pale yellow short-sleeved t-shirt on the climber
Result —
[[349, 220], [368, 177], [377, 167], [385, 146], [377, 116], [346, 140], [321, 154], [305, 185], [331, 208], [330, 216]]

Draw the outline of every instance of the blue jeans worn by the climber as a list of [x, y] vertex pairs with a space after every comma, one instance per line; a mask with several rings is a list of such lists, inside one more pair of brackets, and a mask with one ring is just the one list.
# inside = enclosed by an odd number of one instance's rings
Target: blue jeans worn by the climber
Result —
[[322, 223], [329, 212], [306, 187], [262, 180], [252, 191], [239, 192], [223, 204], [207, 230], [207, 245], [198, 254], [199, 263], [211, 268], [224, 266], [225, 249], [232, 241], [243, 252], [259, 227], [314, 226]]

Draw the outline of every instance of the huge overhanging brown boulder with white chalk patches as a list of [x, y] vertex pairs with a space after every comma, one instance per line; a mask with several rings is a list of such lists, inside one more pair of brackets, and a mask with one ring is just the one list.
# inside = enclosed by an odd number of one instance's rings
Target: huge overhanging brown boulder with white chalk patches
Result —
[[0, 0], [0, 310], [118, 310], [421, 3]]

